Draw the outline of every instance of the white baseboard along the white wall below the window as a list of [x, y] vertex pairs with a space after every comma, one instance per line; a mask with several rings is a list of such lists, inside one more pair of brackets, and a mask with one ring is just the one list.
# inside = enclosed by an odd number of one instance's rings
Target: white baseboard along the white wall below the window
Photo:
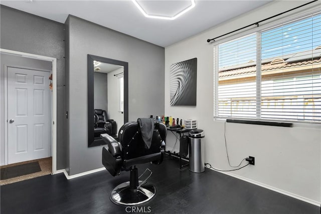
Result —
[[[212, 169], [214, 171], [217, 171], [215, 169]], [[264, 187], [264, 188], [267, 188], [267, 189], [270, 189], [272, 191], [276, 191], [278, 193], [281, 193], [281, 194], [285, 194], [287, 196], [290, 196], [290, 197], [293, 197], [295, 199], [298, 199], [298, 200], [302, 200], [304, 202], [307, 202], [307, 203], [310, 203], [310, 204], [313, 204], [313, 205], [316, 205], [316, 206], [321, 206], [321, 201], [316, 201], [316, 200], [312, 200], [312, 199], [309, 199], [309, 198], [306, 198], [306, 197], [303, 197], [303, 196], [300, 196], [300, 195], [297, 195], [297, 194], [294, 194], [294, 193], [291, 193], [291, 192], [288, 192], [288, 191], [284, 191], [282, 189], [279, 189], [279, 188], [275, 188], [273, 186], [270, 186], [270, 185], [267, 185], [267, 184], [264, 184], [264, 183], [260, 183], [260, 182], [257, 182], [255, 180], [251, 180], [251, 179], [248, 179], [248, 178], [245, 178], [243, 176], [240, 176], [240, 175], [236, 175], [236, 174], [233, 174], [231, 172], [222, 172], [222, 171], [217, 171], [217, 172], [220, 172], [220, 173], [223, 173], [223, 174], [227, 174], [229, 176], [232, 176], [232, 177], [235, 177], [235, 178], [238, 178], [240, 180], [244, 180], [246, 182], [249, 182], [249, 183], [253, 183], [255, 185], [258, 185], [258, 186], [261, 186], [261, 187]]]

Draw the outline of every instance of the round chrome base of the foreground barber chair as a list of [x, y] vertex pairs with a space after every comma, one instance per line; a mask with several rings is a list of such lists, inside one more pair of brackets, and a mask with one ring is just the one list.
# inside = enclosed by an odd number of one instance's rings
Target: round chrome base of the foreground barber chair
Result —
[[[142, 181], [138, 181], [140, 185]], [[116, 186], [110, 193], [110, 200], [121, 205], [138, 205], [150, 200], [155, 196], [155, 186], [144, 183], [136, 189], [130, 189], [129, 181]]]

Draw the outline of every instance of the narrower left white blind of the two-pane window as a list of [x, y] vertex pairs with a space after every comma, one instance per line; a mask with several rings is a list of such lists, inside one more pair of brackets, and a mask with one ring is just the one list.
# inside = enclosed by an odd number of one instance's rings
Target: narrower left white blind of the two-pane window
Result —
[[218, 47], [218, 117], [256, 117], [256, 35]]

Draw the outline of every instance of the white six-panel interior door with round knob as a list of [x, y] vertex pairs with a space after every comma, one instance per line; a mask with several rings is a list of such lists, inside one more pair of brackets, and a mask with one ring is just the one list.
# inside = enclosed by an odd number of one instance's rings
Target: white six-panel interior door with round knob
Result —
[[50, 157], [50, 72], [8, 67], [8, 163]]

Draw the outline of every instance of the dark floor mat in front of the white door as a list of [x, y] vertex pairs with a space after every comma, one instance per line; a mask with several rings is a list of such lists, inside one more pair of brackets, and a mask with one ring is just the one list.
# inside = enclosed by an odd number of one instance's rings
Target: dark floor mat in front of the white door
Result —
[[39, 162], [25, 163], [18, 166], [11, 166], [0, 169], [1, 180], [6, 180], [13, 177], [18, 177], [26, 174], [32, 174], [41, 171]]

